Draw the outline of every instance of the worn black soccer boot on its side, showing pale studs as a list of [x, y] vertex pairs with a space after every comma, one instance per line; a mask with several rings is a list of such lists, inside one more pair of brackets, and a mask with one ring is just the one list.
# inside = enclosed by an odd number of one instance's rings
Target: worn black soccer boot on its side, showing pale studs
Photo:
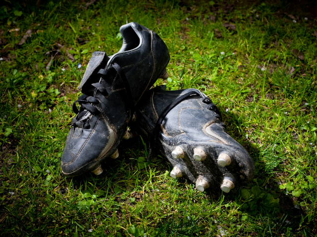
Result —
[[197, 89], [164, 88], [144, 94], [131, 124], [148, 138], [150, 150], [155, 148], [174, 166], [170, 176], [186, 176], [201, 192], [211, 187], [228, 193], [251, 181], [254, 162], [226, 133], [212, 101]]

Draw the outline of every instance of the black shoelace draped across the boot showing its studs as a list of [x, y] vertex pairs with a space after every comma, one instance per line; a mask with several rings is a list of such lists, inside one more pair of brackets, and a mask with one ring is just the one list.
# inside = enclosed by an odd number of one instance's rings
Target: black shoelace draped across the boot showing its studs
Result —
[[[153, 133], [152, 133], [152, 138], [150, 140], [150, 143], [149, 143], [149, 152], [148, 152], [148, 157], [147, 157], [147, 160], [149, 161], [150, 160], [150, 155], [151, 155], [151, 152], [152, 152], [152, 147], [151, 147], [151, 144], [156, 144], [156, 140], [158, 138], [158, 134], [159, 134], [159, 130], [160, 130], [160, 124], [162, 123], [163, 119], [166, 117], [166, 115], [168, 114], [169, 111], [171, 111], [180, 101], [186, 99], [187, 97], [189, 96], [192, 96], [192, 95], [198, 95], [198, 96], [201, 96], [201, 94], [199, 94], [198, 92], [196, 91], [190, 91], [180, 97], [178, 97], [177, 99], [175, 99], [172, 103], [170, 103], [166, 108], [165, 110], [160, 114], [159, 118], [158, 118], [158, 121], [156, 122], [155, 124], [155, 127], [154, 127], [154, 130], [153, 130]], [[215, 104], [212, 103], [211, 99], [208, 98], [208, 97], [205, 97], [203, 98], [203, 102], [205, 104], [208, 104], [208, 107], [207, 109], [208, 110], [212, 110], [213, 112], [215, 112], [217, 115], [219, 115], [219, 117], [221, 118], [221, 114], [220, 114], [220, 111], [218, 110], [218, 108], [215, 106]]]

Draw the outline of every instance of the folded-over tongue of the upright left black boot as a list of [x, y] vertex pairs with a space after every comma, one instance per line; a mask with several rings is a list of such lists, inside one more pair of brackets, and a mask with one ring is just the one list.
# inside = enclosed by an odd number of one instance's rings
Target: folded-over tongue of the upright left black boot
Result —
[[98, 71], [106, 67], [109, 59], [110, 58], [106, 55], [105, 52], [93, 52], [93, 55], [87, 65], [84, 77], [81, 80], [78, 89], [81, 89], [88, 80], [94, 83], [95, 81], [93, 80], [95, 79], [96, 82], [98, 82], [97, 80], [99, 80], [99, 78], [96, 78]]

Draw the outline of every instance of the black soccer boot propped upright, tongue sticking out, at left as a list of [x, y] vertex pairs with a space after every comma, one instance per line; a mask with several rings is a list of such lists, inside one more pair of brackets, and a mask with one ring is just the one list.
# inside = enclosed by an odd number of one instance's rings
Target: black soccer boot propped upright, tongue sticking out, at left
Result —
[[78, 87], [83, 95], [73, 104], [77, 116], [61, 158], [66, 176], [101, 174], [102, 160], [117, 158], [119, 142], [130, 136], [126, 129], [135, 104], [158, 78], [168, 77], [168, 49], [155, 32], [132, 22], [120, 33], [119, 52], [94, 52]]

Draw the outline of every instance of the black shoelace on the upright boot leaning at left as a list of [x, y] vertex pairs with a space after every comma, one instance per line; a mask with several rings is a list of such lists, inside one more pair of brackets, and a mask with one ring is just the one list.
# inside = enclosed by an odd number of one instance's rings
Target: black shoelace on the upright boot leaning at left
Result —
[[[97, 91], [100, 91], [104, 96], [108, 95], [108, 92], [106, 90], [106, 88], [103, 86], [105, 80], [104, 78], [106, 77], [106, 74], [112, 70], [112, 68], [117, 72], [117, 74], [119, 75], [120, 79], [122, 80], [123, 84], [124, 84], [124, 88], [125, 88], [125, 92], [126, 92], [126, 96], [127, 96], [127, 103], [129, 105], [130, 108], [130, 117], [132, 118], [132, 114], [134, 111], [134, 102], [133, 102], [133, 96], [132, 96], [132, 92], [131, 92], [131, 88], [130, 85], [128, 83], [127, 78], [125, 77], [124, 73], [122, 72], [120, 66], [116, 63], [112, 64], [112, 67], [110, 67], [108, 70], [104, 70], [104, 69], [100, 69], [98, 74], [101, 76], [101, 79], [99, 80], [99, 82], [97, 83], [93, 83], [91, 84], [92, 86], [95, 87], [94, 92], [93, 92], [93, 96], [88, 96], [86, 94], [83, 94], [81, 96], [79, 96], [78, 100], [76, 100], [73, 103], [72, 109], [74, 111], [75, 114], [77, 114], [76, 118], [73, 118], [72, 120], [72, 125], [76, 126], [76, 127], [81, 127], [81, 128], [89, 128], [90, 125], [88, 123], [89, 119], [92, 116], [98, 115], [100, 113], [102, 113], [101, 109], [97, 106], [97, 104], [99, 104], [99, 101], [95, 98], [95, 96], [97, 95]], [[79, 111], [76, 107], [76, 103], [78, 103], [81, 106], [80, 110], [83, 111]], [[130, 118], [130, 120], [131, 120]]]

